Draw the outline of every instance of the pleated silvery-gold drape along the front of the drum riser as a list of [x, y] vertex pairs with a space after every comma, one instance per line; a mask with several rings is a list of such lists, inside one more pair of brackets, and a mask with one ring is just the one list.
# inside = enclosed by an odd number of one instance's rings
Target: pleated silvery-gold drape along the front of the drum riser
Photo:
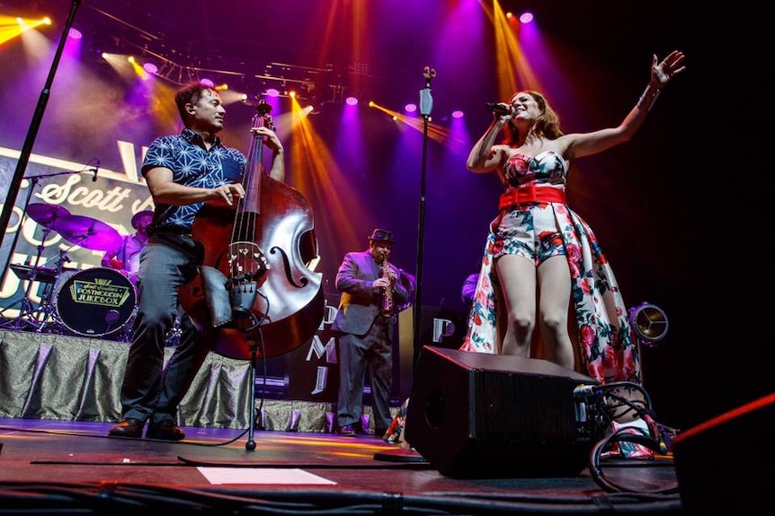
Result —
[[[0, 330], [0, 417], [114, 422], [129, 344]], [[166, 358], [173, 349], [167, 348]], [[334, 406], [250, 397], [248, 361], [209, 354], [181, 404], [183, 426], [330, 431]]]

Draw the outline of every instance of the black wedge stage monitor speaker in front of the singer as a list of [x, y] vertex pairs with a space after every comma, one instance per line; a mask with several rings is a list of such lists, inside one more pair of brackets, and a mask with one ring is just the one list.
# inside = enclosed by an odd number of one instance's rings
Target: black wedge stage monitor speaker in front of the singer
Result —
[[447, 477], [575, 477], [604, 430], [574, 389], [597, 384], [545, 360], [425, 345], [406, 442]]

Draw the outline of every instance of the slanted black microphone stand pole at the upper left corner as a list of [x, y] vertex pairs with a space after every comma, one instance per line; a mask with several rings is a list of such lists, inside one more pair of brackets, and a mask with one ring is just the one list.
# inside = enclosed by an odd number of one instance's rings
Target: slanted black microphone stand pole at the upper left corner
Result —
[[[59, 37], [59, 45], [57, 52], [54, 55], [54, 61], [51, 64], [49, 70], [49, 77], [46, 79], [46, 84], [43, 86], [43, 91], [40, 92], [40, 98], [38, 99], [38, 105], [35, 107], [35, 113], [32, 115], [32, 121], [30, 129], [27, 131], [27, 137], [24, 140], [22, 151], [19, 154], [19, 161], [16, 163], [16, 171], [13, 172], [13, 179], [8, 187], [8, 195], [5, 197], [3, 205], [3, 212], [0, 214], [0, 249], [3, 246], [3, 237], [5, 231], [8, 229], [8, 222], [11, 220], [11, 214], [13, 213], [13, 206], [16, 204], [16, 197], [19, 195], [19, 188], [24, 179], [24, 171], [27, 168], [27, 163], [30, 162], [30, 155], [32, 153], [32, 146], [35, 144], [35, 138], [38, 136], [38, 129], [40, 128], [40, 122], [43, 119], [43, 113], [46, 111], [46, 105], [49, 103], [49, 93], [51, 91], [51, 85], [54, 83], [54, 75], [57, 73], [57, 67], [59, 60], [62, 57], [62, 53], [65, 50], [65, 43], [67, 43], [67, 34], [70, 31], [70, 27], [73, 26], [73, 21], [76, 18], [76, 11], [81, 4], [81, 0], [73, 0], [73, 5], [70, 8], [70, 13], [67, 16], [67, 22], [62, 29], [62, 35]], [[11, 250], [13, 253], [13, 249]], [[11, 255], [8, 255], [7, 263], [10, 263]], [[5, 268], [5, 267], [4, 267]]]

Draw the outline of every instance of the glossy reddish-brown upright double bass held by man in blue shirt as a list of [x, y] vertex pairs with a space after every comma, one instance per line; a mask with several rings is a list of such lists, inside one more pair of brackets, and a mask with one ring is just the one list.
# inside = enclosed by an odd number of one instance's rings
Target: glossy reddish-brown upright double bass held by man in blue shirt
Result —
[[[273, 130], [271, 110], [259, 102], [254, 127]], [[272, 357], [309, 341], [323, 320], [315, 223], [307, 198], [264, 172], [261, 135], [253, 135], [243, 187], [236, 209], [206, 205], [194, 219], [204, 258], [180, 290], [181, 305], [212, 334], [216, 353]]]

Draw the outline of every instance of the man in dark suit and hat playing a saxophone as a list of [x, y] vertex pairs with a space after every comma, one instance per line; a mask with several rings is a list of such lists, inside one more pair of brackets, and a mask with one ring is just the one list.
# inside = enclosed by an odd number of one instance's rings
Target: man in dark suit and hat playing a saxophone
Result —
[[396, 306], [409, 293], [396, 281], [398, 270], [388, 261], [393, 233], [375, 229], [369, 249], [349, 252], [336, 273], [342, 293], [332, 329], [339, 346], [339, 396], [336, 422], [339, 433], [352, 437], [361, 428], [363, 385], [369, 371], [375, 435], [382, 436], [392, 422], [393, 340]]

